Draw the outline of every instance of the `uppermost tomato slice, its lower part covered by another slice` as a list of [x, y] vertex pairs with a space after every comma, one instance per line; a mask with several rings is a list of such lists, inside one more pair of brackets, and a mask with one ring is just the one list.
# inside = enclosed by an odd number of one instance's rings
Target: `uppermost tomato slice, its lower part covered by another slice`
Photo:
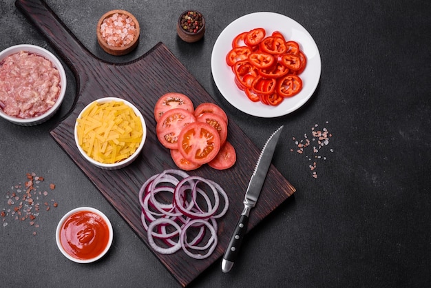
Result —
[[182, 108], [194, 112], [193, 102], [185, 94], [169, 92], [162, 95], [154, 106], [154, 119], [158, 122], [160, 116], [167, 110]]

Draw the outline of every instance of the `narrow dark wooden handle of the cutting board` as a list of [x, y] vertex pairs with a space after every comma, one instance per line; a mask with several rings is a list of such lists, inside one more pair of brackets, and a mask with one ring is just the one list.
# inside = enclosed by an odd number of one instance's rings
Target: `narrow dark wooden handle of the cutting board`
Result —
[[17, 0], [15, 6], [43, 34], [56, 53], [74, 72], [77, 80], [78, 70], [85, 70], [85, 67], [89, 67], [89, 61], [96, 60], [94, 55], [82, 45], [81, 41], [74, 36], [45, 1]]

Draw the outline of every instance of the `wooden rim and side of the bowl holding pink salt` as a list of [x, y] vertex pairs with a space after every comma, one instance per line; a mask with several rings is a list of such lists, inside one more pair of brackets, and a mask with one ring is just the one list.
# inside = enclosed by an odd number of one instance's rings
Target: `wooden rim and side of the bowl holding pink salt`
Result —
[[[101, 34], [101, 25], [103, 23], [103, 20], [105, 20], [108, 17], [111, 17], [112, 15], [114, 15], [116, 13], [126, 15], [127, 17], [132, 19], [135, 23], [135, 28], [136, 28], [136, 34], [135, 34], [133, 41], [127, 45], [120, 46], [120, 47], [108, 45], [107, 41], [105, 41], [105, 39], [103, 39], [102, 34]], [[105, 14], [103, 14], [101, 19], [99, 19], [99, 21], [97, 23], [97, 41], [98, 41], [99, 45], [101, 45], [102, 49], [105, 50], [105, 52], [112, 54], [114, 56], [125, 55], [129, 52], [132, 52], [132, 50], [134, 50], [136, 48], [136, 46], [138, 45], [139, 34], [140, 34], [140, 29], [139, 29], [138, 20], [136, 20], [136, 17], [134, 17], [131, 13], [129, 13], [125, 10], [111, 10], [109, 12], [106, 12]]]

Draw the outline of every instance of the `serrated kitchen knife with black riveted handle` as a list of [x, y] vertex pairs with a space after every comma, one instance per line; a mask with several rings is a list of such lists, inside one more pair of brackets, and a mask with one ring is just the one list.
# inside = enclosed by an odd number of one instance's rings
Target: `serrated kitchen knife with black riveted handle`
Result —
[[251, 175], [249, 187], [247, 187], [245, 194], [244, 209], [242, 210], [240, 219], [233, 230], [226, 251], [224, 251], [222, 260], [222, 271], [224, 273], [227, 273], [232, 269], [235, 258], [238, 256], [242, 239], [247, 231], [250, 210], [255, 207], [257, 198], [259, 198], [260, 191], [264, 185], [266, 174], [268, 173], [269, 165], [271, 165], [275, 146], [277, 146], [278, 138], [280, 138], [282, 129], [283, 126], [275, 130], [275, 132], [269, 137], [268, 141], [266, 141], [262, 148], [259, 158], [257, 159], [255, 170], [253, 175]]

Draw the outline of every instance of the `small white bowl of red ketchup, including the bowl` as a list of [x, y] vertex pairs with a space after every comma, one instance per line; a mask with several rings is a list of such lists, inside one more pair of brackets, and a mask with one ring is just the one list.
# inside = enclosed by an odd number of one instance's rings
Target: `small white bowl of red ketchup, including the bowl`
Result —
[[92, 263], [102, 258], [113, 238], [114, 231], [107, 216], [92, 207], [78, 207], [67, 212], [55, 234], [61, 253], [76, 263]]

